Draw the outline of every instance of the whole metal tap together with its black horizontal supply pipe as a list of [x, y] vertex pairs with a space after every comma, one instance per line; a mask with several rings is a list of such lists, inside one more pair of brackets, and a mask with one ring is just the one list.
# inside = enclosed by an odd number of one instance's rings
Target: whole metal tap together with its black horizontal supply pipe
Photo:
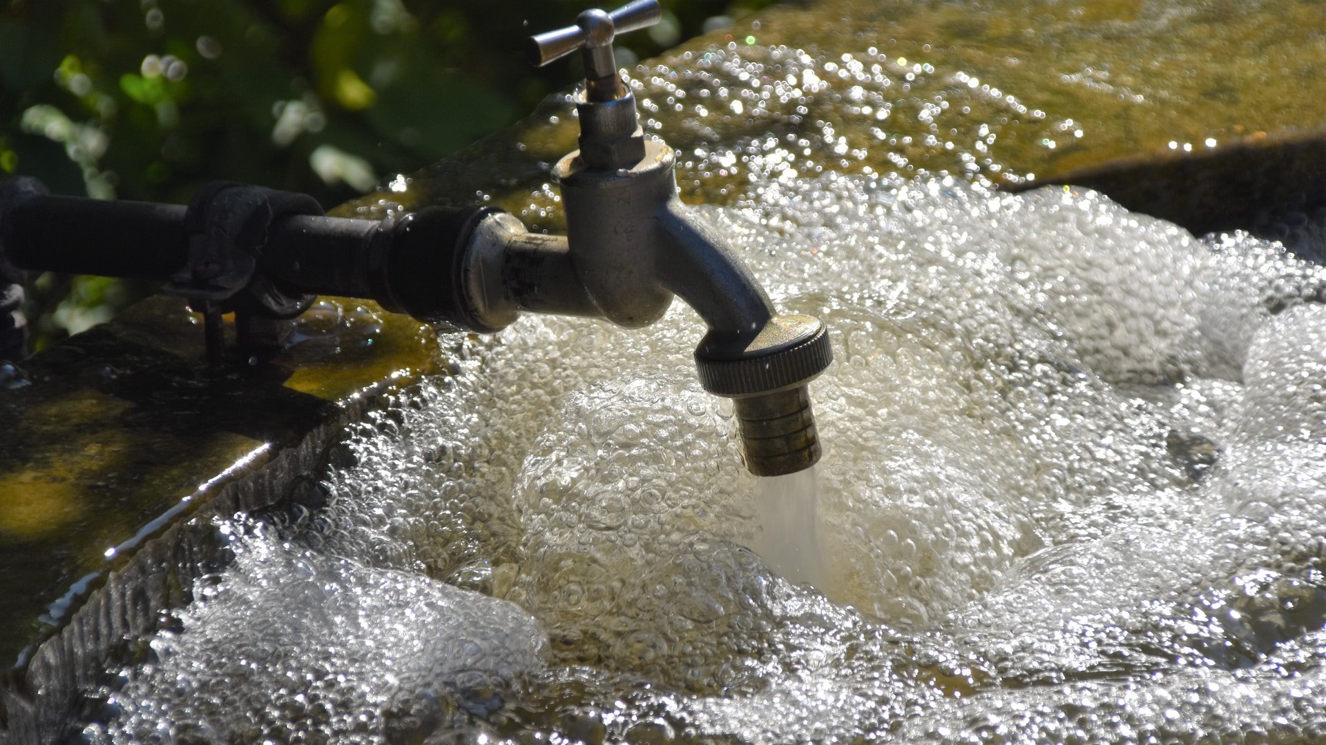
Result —
[[808, 383], [833, 361], [829, 337], [819, 319], [773, 308], [725, 239], [678, 199], [672, 148], [644, 137], [613, 38], [659, 17], [655, 0], [636, 0], [532, 40], [538, 64], [585, 57], [579, 150], [554, 167], [566, 236], [530, 233], [492, 207], [377, 221], [326, 217], [309, 196], [227, 182], [186, 207], [54, 196], [17, 178], [0, 183], [0, 269], [163, 281], [204, 312], [219, 365], [221, 313], [235, 312], [237, 357], [249, 359], [253, 347], [274, 349], [276, 325], [317, 294], [477, 333], [522, 312], [646, 326], [679, 296], [708, 325], [695, 350], [700, 383], [735, 399], [747, 468], [809, 468], [819, 437]]

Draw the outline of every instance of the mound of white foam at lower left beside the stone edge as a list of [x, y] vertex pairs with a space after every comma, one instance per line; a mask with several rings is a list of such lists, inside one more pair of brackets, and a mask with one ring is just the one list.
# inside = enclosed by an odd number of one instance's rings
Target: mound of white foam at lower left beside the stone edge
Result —
[[[109, 696], [119, 741], [400, 741], [542, 668], [517, 607], [220, 526], [236, 553]], [[371, 736], [378, 737], [371, 737]]]

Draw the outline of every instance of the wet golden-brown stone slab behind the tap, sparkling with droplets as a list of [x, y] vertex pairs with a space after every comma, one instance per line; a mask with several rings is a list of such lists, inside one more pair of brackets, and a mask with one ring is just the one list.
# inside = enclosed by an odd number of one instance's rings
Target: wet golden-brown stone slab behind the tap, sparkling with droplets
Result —
[[[1326, 194], [1314, 0], [789, 4], [629, 69], [683, 195], [731, 204], [822, 172], [1071, 183], [1201, 235], [1273, 239]], [[1273, 50], [1273, 52], [1269, 52]], [[558, 228], [569, 97], [349, 212], [484, 195]], [[480, 167], [481, 164], [481, 167]], [[1314, 244], [1315, 245], [1315, 244]]]

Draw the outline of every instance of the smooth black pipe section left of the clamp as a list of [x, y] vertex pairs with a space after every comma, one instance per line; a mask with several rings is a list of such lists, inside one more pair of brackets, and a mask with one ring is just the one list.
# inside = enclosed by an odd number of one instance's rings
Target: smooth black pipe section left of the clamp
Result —
[[29, 196], [4, 219], [20, 269], [166, 281], [188, 260], [183, 204]]

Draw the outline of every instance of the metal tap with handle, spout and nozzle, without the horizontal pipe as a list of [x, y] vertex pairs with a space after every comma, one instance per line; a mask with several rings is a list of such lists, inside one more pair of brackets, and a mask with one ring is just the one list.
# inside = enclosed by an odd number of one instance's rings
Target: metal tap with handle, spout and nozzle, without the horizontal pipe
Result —
[[[553, 168], [568, 253], [598, 314], [627, 327], [656, 321], [679, 296], [708, 325], [695, 350], [700, 383], [735, 399], [747, 467], [793, 473], [819, 460], [808, 383], [833, 361], [822, 322], [780, 314], [727, 240], [678, 198], [675, 154], [639, 126], [613, 56], [618, 33], [658, 23], [656, 0], [534, 36], [538, 65], [579, 49], [579, 150]], [[496, 220], [496, 219], [495, 219]]]

